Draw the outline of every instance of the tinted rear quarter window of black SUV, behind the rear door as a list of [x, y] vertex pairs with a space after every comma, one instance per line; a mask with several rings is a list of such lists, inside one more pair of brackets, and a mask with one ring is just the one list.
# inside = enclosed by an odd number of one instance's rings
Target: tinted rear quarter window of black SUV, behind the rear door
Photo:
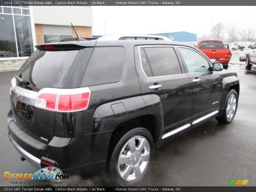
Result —
[[121, 80], [125, 50], [123, 47], [95, 47], [81, 87], [114, 83]]

